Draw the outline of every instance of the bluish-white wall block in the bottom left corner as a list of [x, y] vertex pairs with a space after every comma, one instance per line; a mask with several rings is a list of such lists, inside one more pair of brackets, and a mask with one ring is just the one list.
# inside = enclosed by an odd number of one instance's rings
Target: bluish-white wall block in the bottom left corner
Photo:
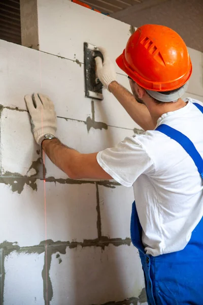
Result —
[[5, 259], [5, 298], [7, 305], [44, 304], [43, 279], [44, 254], [17, 254]]

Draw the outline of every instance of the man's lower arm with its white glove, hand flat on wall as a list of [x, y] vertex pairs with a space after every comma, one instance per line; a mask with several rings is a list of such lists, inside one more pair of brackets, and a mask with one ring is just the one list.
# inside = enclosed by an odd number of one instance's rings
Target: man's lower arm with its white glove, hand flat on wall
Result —
[[41, 145], [49, 159], [72, 179], [112, 179], [97, 163], [96, 155], [80, 154], [77, 150], [63, 145], [55, 137], [57, 129], [54, 104], [49, 97], [42, 94], [25, 96], [25, 102], [31, 118], [32, 133], [36, 142]]

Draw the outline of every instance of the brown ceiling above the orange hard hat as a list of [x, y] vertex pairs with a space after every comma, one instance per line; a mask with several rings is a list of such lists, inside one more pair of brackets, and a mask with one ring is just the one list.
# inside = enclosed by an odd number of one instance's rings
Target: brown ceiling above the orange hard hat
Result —
[[188, 47], [203, 52], [203, 0], [81, 0], [111, 17], [139, 27], [171, 27]]

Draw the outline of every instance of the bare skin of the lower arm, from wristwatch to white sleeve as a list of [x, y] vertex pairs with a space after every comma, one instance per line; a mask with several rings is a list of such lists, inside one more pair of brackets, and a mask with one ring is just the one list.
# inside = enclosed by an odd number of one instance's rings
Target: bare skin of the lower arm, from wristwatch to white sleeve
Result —
[[113, 179], [97, 163], [97, 153], [80, 154], [77, 150], [62, 144], [57, 138], [44, 140], [42, 148], [49, 159], [71, 179]]

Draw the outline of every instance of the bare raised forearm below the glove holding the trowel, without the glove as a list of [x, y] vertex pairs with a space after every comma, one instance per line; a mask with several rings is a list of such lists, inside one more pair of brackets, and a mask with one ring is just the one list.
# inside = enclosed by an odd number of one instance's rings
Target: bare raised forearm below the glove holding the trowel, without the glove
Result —
[[147, 107], [138, 103], [126, 88], [116, 81], [113, 81], [109, 85], [109, 90], [140, 127], [144, 130], [152, 130], [155, 128]]

